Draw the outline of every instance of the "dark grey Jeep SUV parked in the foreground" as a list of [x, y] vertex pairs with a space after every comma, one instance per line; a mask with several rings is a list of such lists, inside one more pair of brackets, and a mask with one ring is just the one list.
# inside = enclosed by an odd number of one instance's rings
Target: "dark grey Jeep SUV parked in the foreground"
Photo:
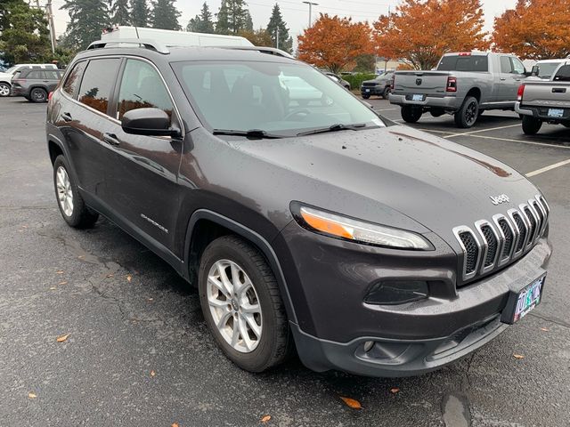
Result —
[[[295, 345], [315, 371], [417, 375], [541, 302], [550, 211], [525, 175], [274, 49], [134, 43], [92, 44], [53, 92], [57, 203], [71, 227], [107, 216], [198, 286], [238, 366]], [[279, 77], [329, 101], [299, 108]]]

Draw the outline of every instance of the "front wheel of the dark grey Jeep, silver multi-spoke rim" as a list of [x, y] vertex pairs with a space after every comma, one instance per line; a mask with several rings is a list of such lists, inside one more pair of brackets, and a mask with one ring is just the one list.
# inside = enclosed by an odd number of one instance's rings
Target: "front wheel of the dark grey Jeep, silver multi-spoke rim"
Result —
[[273, 271], [264, 256], [237, 236], [216, 238], [199, 264], [199, 299], [218, 347], [237, 366], [262, 372], [292, 348]]

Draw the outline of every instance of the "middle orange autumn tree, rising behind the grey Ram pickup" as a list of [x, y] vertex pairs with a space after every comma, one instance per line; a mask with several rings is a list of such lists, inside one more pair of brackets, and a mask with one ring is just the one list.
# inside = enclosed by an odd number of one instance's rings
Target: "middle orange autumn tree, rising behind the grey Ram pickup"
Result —
[[445, 52], [488, 49], [484, 24], [480, 0], [403, 0], [373, 23], [376, 54], [434, 68]]

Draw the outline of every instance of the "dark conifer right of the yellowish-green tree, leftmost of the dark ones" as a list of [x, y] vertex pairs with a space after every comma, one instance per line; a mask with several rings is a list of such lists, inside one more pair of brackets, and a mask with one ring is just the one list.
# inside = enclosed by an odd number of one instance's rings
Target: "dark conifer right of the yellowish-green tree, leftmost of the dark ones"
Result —
[[64, 0], [61, 9], [67, 9], [69, 24], [66, 37], [73, 40], [73, 47], [85, 49], [99, 40], [103, 28], [110, 25], [106, 0]]

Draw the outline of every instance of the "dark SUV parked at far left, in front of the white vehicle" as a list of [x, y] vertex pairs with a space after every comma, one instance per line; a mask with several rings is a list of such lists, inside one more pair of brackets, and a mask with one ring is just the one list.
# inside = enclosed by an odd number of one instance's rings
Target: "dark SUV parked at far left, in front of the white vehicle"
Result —
[[12, 77], [12, 96], [23, 96], [32, 102], [47, 102], [47, 95], [60, 83], [61, 69], [24, 68]]

